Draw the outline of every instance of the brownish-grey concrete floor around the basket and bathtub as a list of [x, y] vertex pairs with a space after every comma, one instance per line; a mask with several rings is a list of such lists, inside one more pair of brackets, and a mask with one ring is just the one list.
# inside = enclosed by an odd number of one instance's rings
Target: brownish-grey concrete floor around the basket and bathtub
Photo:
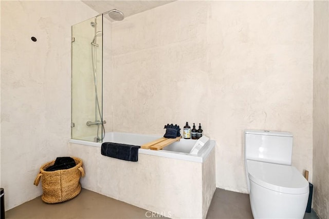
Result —
[[[152, 213], [113, 198], [82, 189], [81, 193], [64, 203], [46, 204], [41, 197], [26, 202], [6, 212], [6, 218], [150, 218]], [[164, 218], [161, 215], [154, 217]], [[207, 218], [253, 218], [249, 195], [216, 189]], [[317, 219], [314, 211], [305, 213], [304, 219]]]

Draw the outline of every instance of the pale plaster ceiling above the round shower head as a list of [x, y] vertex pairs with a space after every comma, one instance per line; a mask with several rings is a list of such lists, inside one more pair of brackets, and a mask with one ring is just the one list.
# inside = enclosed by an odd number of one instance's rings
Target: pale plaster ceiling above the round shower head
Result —
[[[91, 1], [82, 1], [82, 2], [100, 14], [115, 8], [118, 9], [119, 11], [122, 11], [124, 16], [127, 17], [174, 1], [160, 1], [160, 0], [155, 0], [155, 1], [106, 1], [106, 0], [95, 1], [94, 0], [93, 1], [91, 0]], [[111, 20], [111, 18], [108, 19]]]

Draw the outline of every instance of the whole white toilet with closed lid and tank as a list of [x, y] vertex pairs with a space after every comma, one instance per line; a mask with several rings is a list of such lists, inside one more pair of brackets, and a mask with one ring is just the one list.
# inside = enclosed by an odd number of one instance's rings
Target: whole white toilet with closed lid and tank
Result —
[[245, 167], [254, 218], [303, 218], [309, 185], [291, 166], [293, 135], [245, 130]]

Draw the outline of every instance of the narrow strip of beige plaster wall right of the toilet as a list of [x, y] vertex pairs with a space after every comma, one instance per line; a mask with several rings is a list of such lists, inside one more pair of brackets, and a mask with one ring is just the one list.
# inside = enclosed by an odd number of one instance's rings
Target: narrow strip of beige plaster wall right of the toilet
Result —
[[314, 2], [313, 208], [329, 218], [329, 3]]

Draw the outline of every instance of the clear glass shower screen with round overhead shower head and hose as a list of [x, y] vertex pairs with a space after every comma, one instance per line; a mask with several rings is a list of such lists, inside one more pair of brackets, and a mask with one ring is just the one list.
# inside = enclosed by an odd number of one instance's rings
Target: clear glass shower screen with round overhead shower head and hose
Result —
[[101, 142], [103, 121], [103, 19], [122, 21], [117, 9], [72, 26], [71, 138]]

